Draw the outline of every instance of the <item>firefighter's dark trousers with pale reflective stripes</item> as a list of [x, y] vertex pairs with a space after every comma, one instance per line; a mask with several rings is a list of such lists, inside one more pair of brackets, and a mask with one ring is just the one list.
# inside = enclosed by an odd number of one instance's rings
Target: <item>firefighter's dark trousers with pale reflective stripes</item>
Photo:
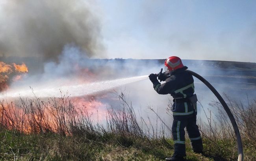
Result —
[[202, 138], [198, 130], [195, 115], [174, 115], [172, 126], [174, 156], [186, 156], [185, 127], [194, 152], [202, 152]]

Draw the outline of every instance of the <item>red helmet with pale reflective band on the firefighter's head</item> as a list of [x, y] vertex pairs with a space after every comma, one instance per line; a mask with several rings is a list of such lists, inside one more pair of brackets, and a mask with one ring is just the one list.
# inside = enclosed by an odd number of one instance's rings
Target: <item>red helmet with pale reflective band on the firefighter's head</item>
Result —
[[165, 71], [172, 71], [182, 67], [184, 65], [179, 57], [169, 57], [165, 60]]

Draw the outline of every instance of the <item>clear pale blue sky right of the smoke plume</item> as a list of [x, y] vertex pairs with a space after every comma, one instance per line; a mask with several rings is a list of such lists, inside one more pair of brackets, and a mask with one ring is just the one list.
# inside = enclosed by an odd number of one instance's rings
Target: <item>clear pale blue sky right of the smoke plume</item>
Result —
[[256, 62], [255, 0], [97, 0], [107, 58]]

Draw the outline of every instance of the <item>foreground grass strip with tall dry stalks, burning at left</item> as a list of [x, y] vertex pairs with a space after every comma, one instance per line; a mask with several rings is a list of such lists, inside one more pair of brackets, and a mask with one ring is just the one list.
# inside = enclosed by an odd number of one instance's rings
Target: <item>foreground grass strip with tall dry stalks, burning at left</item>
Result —
[[[67, 94], [48, 100], [35, 97], [20, 98], [18, 102], [1, 101], [0, 159], [110, 161], [163, 160], [171, 156], [172, 138], [160, 132], [168, 130], [164, 128], [166, 124], [161, 123], [161, 130], [155, 129], [152, 120], [136, 116], [122, 93], [118, 97], [122, 106], [119, 110], [106, 109], [106, 124], [95, 122], [88, 108], [76, 106]], [[244, 107], [226, 99], [241, 131], [245, 160], [255, 160], [256, 101]], [[204, 154], [194, 154], [187, 138], [187, 159], [236, 160], [232, 126], [219, 103], [211, 105], [217, 112], [207, 116], [209, 122], [198, 120]], [[163, 122], [160, 118], [159, 121]]]

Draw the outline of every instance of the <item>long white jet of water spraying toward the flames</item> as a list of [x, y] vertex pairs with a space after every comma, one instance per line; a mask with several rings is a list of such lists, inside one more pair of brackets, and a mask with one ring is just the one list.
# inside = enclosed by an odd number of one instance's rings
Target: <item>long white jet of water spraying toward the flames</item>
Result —
[[[125, 84], [129, 84], [132, 82], [137, 82], [140, 80], [148, 79], [147, 75], [139, 76], [139, 77], [130, 77], [123, 79], [115, 79], [115, 80], [106, 80], [101, 82], [93, 82], [79, 85], [70, 85], [70, 86], [59, 86], [54, 88], [37, 88], [33, 87], [30, 89], [29, 87], [19, 89], [19, 90], [9, 90], [6, 93], [0, 95], [1, 97], [34, 97], [34, 94], [37, 97], [58, 97], [60, 96], [60, 91], [66, 92], [68, 91], [71, 97], [90, 95], [94, 93], [98, 93], [101, 91], [111, 90], [113, 88], [117, 88], [119, 86], [123, 86]], [[60, 90], [60, 91], [59, 91]]]

